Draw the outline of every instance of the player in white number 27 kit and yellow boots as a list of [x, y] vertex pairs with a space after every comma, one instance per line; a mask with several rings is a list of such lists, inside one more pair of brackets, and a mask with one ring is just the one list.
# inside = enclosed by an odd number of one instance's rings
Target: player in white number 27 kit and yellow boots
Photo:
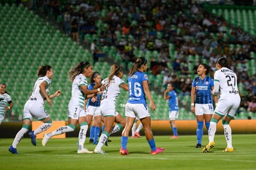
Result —
[[207, 153], [214, 147], [214, 137], [216, 132], [216, 124], [222, 119], [224, 128], [224, 136], [226, 138], [227, 147], [223, 152], [233, 152], [231, 127], [229, 122], [234, 118], [236, 111], [240, 105], [241, 98], [237, 88], [237, 75], [233, 70], [228, 69], [228, 60], [220, 57], [216, 61], [216, 70], [214, 75], [213, 95], [220, 93], [218, 105], [211, 117], [210, 127], [208, 131], [209, 143], [203, 148], [203, 152]]

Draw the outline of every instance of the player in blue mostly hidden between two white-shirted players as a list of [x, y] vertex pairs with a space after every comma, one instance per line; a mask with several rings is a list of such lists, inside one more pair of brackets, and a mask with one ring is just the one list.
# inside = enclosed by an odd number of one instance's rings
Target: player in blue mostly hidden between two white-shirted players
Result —
[[[101, 75], [99, 72], [93, 72], [93, 75], [90, 80], [90, 85], [88, 85], [88, 90], [93, 90], [96, 84], [100, 84]], [[87, 123], [91, 124], [93, 119], [93, 124], [90, 128], [90, 143], [93, 145], [98, 144], [98, 137], [100, 135], [101, 127], [101, 114], [100, 114], [100, 98], [102, 92], [98, 92], [95, 98], [89, 98], [86, 106], [87, 109]]]

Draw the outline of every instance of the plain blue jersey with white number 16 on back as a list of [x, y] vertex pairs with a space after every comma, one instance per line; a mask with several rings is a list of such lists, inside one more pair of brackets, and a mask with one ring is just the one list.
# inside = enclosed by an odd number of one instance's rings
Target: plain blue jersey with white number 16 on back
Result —
[[142, 85], [142, 82], [144, 81], [148, 81], [148, 75], [144, 72], [137, 71], [134, 75], [128, 77], [127, 82], [129, 85], [129, 98], [127, 100], [127, 103], [147, 104], [145, 92]]

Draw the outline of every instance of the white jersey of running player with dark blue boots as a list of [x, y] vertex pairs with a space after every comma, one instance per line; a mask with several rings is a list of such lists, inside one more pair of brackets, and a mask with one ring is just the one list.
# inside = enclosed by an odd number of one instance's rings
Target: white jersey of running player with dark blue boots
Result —
[[30, 100], [35, 100], [39, 103], [44, 103], [45, 96], [40, 91], [40, 84], [41, 82], [46, 82], [46, 93], [49, 94], [49, 85], [51, 84], [51, 80], [45, 75], [44, 77], [39, 77], [34, 85], [32, 95], [30, 96]]

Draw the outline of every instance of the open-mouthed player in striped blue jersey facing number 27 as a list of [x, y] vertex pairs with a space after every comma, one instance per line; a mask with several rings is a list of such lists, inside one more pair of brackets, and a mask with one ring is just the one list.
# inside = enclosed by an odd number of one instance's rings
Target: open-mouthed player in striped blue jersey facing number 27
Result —
[[210, 67], [207, 64], [200, 64], [197, 68], [197, 78], [192, 82], [191, 89], [191, 111], [197, 117], [197, 145], [195, 148], [202, 147], [203, 121], [207, 127], [210, 126], [211, 116], [213, 114], [213, 99], [217, 103], [217, 97], [211, 95], [213, 90], [213, 79], [208, 75]]

